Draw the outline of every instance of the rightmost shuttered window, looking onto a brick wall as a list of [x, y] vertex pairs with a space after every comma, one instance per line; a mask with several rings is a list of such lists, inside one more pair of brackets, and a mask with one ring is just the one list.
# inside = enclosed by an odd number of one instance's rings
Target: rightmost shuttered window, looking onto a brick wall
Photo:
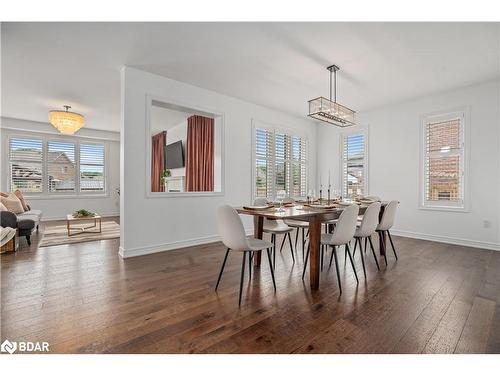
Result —
[[464, 120], [464, 112], [423, 120], [423, 208], [465, 208]]

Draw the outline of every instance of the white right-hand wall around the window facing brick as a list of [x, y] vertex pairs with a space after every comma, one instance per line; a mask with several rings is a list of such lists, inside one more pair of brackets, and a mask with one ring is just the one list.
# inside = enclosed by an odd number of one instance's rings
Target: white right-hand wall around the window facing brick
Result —
[[[421, 210], [421, 115], [463, 107], [470, 109], [470, 211]], [[500, 250], [499, 119], [498, 80], [359, 114], [358, 123], [369, 129], [369, 192], [401, 202], [395, 234]], [[340, 165], [340, 134], [332, 126], [318, 127], [323, 173]]]

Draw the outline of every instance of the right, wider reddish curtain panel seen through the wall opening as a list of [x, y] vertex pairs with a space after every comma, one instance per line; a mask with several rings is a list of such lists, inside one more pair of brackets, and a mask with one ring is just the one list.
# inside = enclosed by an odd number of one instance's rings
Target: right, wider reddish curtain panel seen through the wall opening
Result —
[[186, 191], [214, 191], [214, 119], [188, 118]]

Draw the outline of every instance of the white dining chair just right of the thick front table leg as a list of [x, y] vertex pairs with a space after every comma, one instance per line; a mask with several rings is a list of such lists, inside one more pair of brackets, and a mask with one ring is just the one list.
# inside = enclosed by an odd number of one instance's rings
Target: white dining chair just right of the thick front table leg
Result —
[[[344, 245], [345, 252], [349, 255], [351, 261], [352, 270], [354, 271], [354, 276], [356, 277], [356, 282], [359, 283], [358, 274], [356, 272], [356, 267], [354, 266], [354, 261], [352, 259], [352, 254], [349, 249], [349, 242], [354, 237], [354, 232], [356, 231], [356, 223], [358, 219], [359, 207], [357, 204], [347, 206], [343, 209], [340, 214], [338, 221], [333, 229], [332, 233], [321, 234], [321, 245], [326, 245], [332, 247], [332, 255], [330, 257], [330, 265], [332, 266], [332, 260], [335, 258], [335, 269], [337, 272], [337, 281], [339, 283], [340, 294], [342, 294], [342, 284], [340, 282], [340, 272], [339, 272], [339, 262], [337, 258], [337, 246]], [[307, 248], [306, 260], [304, 262], [304, 270], [302, 271], [302, 279], [307, 269], [307, 261], [309, 258], [310, 244]]]

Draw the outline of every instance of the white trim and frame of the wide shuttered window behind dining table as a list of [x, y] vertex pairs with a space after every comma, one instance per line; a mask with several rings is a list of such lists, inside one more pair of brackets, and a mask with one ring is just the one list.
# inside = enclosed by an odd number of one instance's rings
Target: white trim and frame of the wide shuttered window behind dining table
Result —
[[[257, 129], [263, 129], [263, 130], [267, 130], [267, 131], [272, 131], [274, 133], [280, 133], [280, 134], [285, 134], [287, 136], [290, 136], [290, 137], [300, 137], [302, 138], [304, 141], [305, 141], [305, 145], [306, 145], [306, 160], [304, 163], [302, 162], [299, 162], [299, 164], [304, 164], [306, 166], [306, 176], [305, 176], [305, 180], [306, 180], [306, 195], [307, 195], [307, 191], [309, 189], [309, 176], [310, 176], [310, 171], [309, 171], [309, 168], [310, 168], [310, 155], [309, 155], [309, 137], [307, 136], [307, 133], [305, 132], [302, 132], [300, 130], [297, 130], [297, 129], [293, 129], [293, 128], [287, 128], [287, 127], [283, 127], [283, 126], [280, 126], [280, 125], [275, 125], [275, 124], [271, 124], [271, 123], [268, 123], [268, 122], [265, 122], [265, 121], [261, 121], [261, 120], [257, 120], [257, 119], [252, 119], [252, 126], [251, 126], [251, 131], [252, 131], [252, 136], [251, 136], [251, 183], [252, 183], [252, 189], [251, 189], [251, 201], [253, 202], [257, 197], [256, 197], [256, 160], [257, 160], [257, 155], [256, 155], [256, 143], [257, 143], [257, 140], [256, 140], [256, 131]], [[275, 150], [273, 150], [273, 165], [274, 167], [276, 167], [276, 157], [274, 155], [275, 153]], [[290, 166], [293, 164], [293, 160], [292, 159], [287, 159], [285, 158], [285, 162], [286, 161], [289, 161], [290, 162]], [[290, 182], [292, 181], [292, 174], [290, 173], [290, 181], [289, 181], [289, 184]], [[274, 184], [273, 184], [274, 186]], [[273, 192], [272, 192], [272, 198], [271, 199], [276, 199], [276, 191], [274, 191], [275, 189], [273, 188]], [[304, 197], [296, 197], [296, 198], [305, 198]]]

